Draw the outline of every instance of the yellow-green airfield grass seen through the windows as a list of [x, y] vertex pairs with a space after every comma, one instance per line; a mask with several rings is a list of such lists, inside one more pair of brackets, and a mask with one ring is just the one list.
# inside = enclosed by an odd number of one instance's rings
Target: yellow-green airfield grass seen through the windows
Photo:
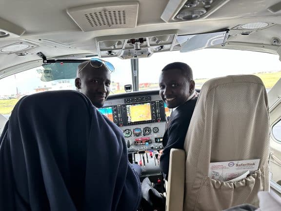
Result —
[[[256, 76], [260, 77], [267, 89], [271, 88], [276, 82], [281, 78], [281, 71], [273, 73], [257, 73]], [[195, 84], [196, 88], [201, 88], [202, 84], [205, 83], [208, 79], [196, 79]], [[153, 87], [150, 89], [158, 88], [158, 84], [153, 84]], [[142, 90], [144, 88], [141, 88]], [[146, 88], [147, 89], [147, 88]], [[114, 93], [121, 93], [123, 90], [114, 91]], [[9, 99], [9, 100], [0, 100], [0, 114], [10, 114], [18, 99]]]

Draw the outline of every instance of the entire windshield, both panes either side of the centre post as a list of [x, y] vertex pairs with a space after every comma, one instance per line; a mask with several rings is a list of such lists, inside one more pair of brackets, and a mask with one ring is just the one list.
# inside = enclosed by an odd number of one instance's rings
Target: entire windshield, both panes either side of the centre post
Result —
[[[132, 84], [131, 61], [119, 58], [104, 60], [115, 67], [115, 71], [111, 73], [110, 94], [125, 92], [124, 85]], [[150, 58], [139, 59], [139, 89], [159, 89], [161, 69], [172, 62], [190, 65], [197, 89], [211, 78], [255, 74], [261, 78], [268, 91], [281, 78], [281, 62], [278, 55], [229, 49], [202, 49], [188, 53], [173, 51], [155, 53]], [[14, 105], [24, 95], [49, 90], [76, 89], [75, 74], [71, 74], [72, 78], [44, 82], [43, 70], [40, 66], [0, 80], [0, 114], [8, 118]]]

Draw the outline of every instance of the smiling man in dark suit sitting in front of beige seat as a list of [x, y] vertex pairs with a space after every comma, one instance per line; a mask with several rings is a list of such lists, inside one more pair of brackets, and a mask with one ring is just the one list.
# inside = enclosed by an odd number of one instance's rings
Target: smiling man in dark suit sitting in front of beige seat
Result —
[[164, 149], [159, 153], [160, 168], [167, 180], [171, 148], [183, 149], [185, 135], [194, 111], [197, 93], [192, 70], [186, 63], [170, 63], [161, 71], [159, 94], [173, 112], [163, 136]]

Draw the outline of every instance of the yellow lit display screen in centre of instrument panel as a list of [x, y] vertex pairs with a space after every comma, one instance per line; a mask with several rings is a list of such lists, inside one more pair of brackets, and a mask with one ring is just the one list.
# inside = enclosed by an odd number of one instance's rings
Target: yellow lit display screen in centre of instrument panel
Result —
[[152, 120], [150, 103], [126, 105], [126, 109], [128, 123]]

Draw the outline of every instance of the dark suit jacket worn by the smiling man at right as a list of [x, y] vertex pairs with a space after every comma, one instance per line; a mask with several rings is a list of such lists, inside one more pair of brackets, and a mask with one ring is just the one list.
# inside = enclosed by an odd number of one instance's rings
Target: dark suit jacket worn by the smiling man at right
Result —
[[196, 105], [197, 98], [191, 99], [177, 107], [171, 114], [163, 136], [163, 153], [160, 157], [160, 168], [165, 176], [169, 173], [171, 148], [183, 149], [186, 132]]

